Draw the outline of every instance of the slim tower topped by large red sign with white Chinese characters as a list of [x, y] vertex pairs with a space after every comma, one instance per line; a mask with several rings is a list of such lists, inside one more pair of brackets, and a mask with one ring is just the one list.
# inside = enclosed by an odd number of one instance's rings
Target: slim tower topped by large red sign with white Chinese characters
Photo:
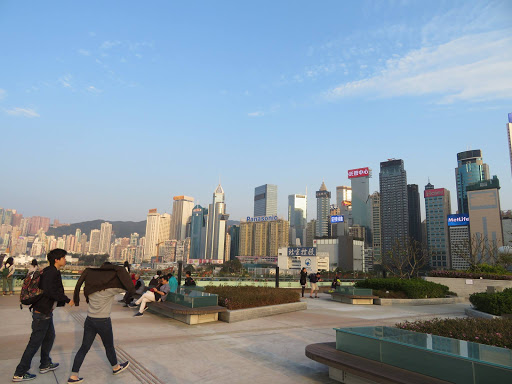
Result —
[[352, 186], [352, 225], [360, 225], [365, 228], [368, 240], [370, 233], [370, 168], [358, 168], [348, 171], [348, 178]]

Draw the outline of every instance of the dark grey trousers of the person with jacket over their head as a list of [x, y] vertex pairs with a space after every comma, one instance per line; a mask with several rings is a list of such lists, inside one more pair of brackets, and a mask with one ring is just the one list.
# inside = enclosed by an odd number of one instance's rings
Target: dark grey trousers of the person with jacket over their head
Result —
[[78, 371], [80, 371], [80, 367], [84, 362], [85, 355], [87, 355], [87, 352], [91, 349], [96, 335], [100, 335], [101, 337], [110, 365], [113, 367], [117, 365], [116, 350], [114, 348], [114, 334], [112, 333], [112, 321], [110, 320], [110, 317], [95, 318], [87, 316], [84, 323], [84, 338], [82, 339], [82, 346], [76, 353], [73, 368], [71, 369], [72, 375], [78, 376]]

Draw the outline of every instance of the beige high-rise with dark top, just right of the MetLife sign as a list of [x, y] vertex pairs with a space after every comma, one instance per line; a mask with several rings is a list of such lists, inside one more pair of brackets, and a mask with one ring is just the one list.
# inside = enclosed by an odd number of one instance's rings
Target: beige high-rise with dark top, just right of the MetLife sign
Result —
[[500, 181], [496, 176], [467, 186], [471, 240], [483, 241], [487, 254], [479, 256], [489, 261], [493, 257], [489, 253], [503, 246], [499, 190]]

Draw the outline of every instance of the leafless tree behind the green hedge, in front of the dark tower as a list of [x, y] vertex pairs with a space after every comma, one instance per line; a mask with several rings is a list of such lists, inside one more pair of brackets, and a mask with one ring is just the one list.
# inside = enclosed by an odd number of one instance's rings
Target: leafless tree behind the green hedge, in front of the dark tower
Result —
[[396, 239], [391, 250], [384, 255], [383, 267], [401, 279], [418, 276], [430, 261], [430, 252], [419, 241], [410, 237]]

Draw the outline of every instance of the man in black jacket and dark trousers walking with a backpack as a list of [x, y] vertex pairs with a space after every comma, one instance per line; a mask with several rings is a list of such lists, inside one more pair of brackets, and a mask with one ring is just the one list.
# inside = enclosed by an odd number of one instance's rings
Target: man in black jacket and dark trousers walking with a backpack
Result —
[[53, 363], [50, 358], [50, 351], [55, 341], [55, 328], [53, 326], [53, 309], [63, 307], [66, 304], [74, 305], [64, 294], [62, 286], [62, 276], [60, 269], [66, 265], [66, 254], [64, 249], [54, 249], [48, 253], [49, 266], [43, 269], [39, 288], [43, 293], [40, 299], [32, 305], [32, 334], [21, 357], [21, 361], [16, 367], [16, 372], [12, 381], [28, 381], [35, 379], [36, 375], [29, 373], [32, 358], [41, 347], [41, 363], [39, 372], [46, 373], [58, 368], [58, 363]]

